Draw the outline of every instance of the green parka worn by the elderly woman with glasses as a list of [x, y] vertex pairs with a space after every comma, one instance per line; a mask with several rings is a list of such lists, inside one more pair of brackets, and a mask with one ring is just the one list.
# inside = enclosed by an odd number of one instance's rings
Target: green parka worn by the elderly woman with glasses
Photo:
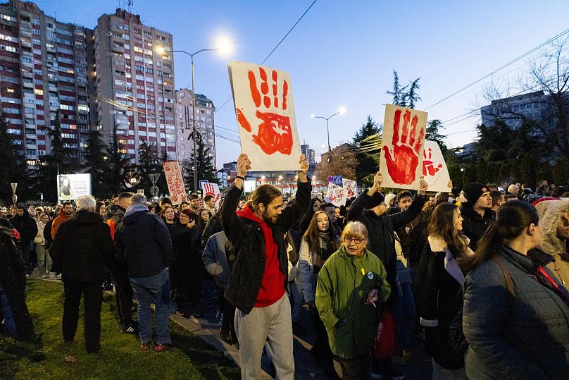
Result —
[[326, 260], [318, 273], [315, 303], [334, 355], [351, 359], [370, 353], [379, 318], [365, 301], [372, 289], [379, 291], [377, 307], [389, 298], [386, 277], [382, 262], [369, 250], [354, 257], [342, 245]]

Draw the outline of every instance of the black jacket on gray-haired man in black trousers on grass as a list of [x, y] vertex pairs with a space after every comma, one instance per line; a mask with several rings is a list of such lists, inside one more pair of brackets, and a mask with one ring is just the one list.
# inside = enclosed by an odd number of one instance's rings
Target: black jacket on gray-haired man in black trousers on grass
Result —
[[49, 253], [62, 281], [102, 282], [114, 261], [111, 231], [96, 212], [78, 210], [61, 223]]

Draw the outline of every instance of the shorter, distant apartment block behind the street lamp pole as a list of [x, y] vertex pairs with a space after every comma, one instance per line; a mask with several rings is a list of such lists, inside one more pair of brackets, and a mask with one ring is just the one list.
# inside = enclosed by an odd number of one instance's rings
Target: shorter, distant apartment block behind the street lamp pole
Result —
[[[176, 91], [176, 140], [177, 140], [177, 159], [185, 161], [192, 158], [194, 152], [193, 140], [188, 140], [192, 134], [192, 90], [182, 88]], [[204, 139], [206, 147], [209, 148], [208, 156], [213, 158], [215, 166], [215, 123], [213, 113], [215, 106], [208, 97], [196, 94], [196, 128]]]

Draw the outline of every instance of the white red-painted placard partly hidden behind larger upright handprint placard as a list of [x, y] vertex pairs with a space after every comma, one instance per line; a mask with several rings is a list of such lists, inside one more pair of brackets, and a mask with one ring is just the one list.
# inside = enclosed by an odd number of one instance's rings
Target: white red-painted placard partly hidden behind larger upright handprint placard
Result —
[[446, 167], [441, 147], [436, 141], [425, 140], [423, 149], [423, 176], [429, 184], [429, 191], [449, 192], [449, 169]]

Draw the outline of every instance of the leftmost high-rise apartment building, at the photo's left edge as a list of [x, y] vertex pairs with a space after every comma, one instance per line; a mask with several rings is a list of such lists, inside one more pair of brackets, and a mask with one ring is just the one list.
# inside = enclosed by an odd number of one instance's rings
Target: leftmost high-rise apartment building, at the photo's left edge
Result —
[[31, 2], [0, 5], [1, 108], [30, 166], [51, 153], [47, 128], [56, 111], [70, 161], [85, 154], [88, 38], [87, 28], [61, 23]]

